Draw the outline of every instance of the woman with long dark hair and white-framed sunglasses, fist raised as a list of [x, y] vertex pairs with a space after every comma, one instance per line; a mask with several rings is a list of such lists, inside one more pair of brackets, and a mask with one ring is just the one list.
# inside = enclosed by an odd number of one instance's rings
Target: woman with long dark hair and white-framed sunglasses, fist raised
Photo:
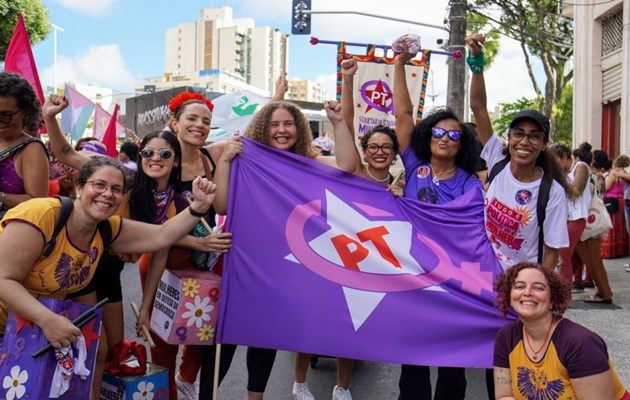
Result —
[[[47, 118], [54, 118], [67, 105], [67, 100], [62, 96], [51, 95], [49, 101], [44, 105], [44, 113]], [[49, 126], [50, 141], [53, 151], [59, 154], [59, 160], [73, 168], [81, 168], [89, 160], [89, 157], [75, 151], [70, 146], [57, 124]], [[121, 195], [121, 205], [116, 211], [116, 215], [150, 224], [162, 224], [185, 209], [188, 206], [186, 199], [173, 189], [180, 183], [181, 159], [182, 153], [179, 142], [171, 132], [153, 132], [145, 136], [140, 145], [139, 159], [137, 160], [140, 168], [138, 168], [134, 179], [133, 188], [124, 197]], [[100, 183], [93, 183], [94, 190], [101, 187]], [[149, 311], [168, 255], [169, 248], [166, 248], [154, 253], [153, 257], [142, 257], [140, 272], [141, 283], [145, 290], [137, 327], [141, 327], [142, 324], [149, 326]], [[106, 340], [102, 341], [107, 343], [110, 356], [112, 349], [124, 339], [120, 273], [125, 262], [135, 263], [141, 256], [142, 254], [110, 255], [106, 261], [99, 263], [95, 278], [92, 279], [90, 285], [74, 294], [74, 296], [82, 296], [96, 292], [98, 300], [105, 297], [110, 299], [110, 302], [103, 308], [104, 339]], [[177, 386], [174, 377], [179, 347], [169, 345], [156, 336], [153, 336], [153, 339], [156, 342], [156, 347], [151, 348], [152, 362], [168, 368], [170, 396], [176, 398]], [[188, 360], [190, 357], [187, 358], [187, 356], [190, 354], [199, 353], [201, 351], [198, 348], [188, 349], [184, 347], [182, 358]], [[184, 362], [180, 366], [181, 369], [191, 369], [196, 376], [199, 371], [199, 361]]]

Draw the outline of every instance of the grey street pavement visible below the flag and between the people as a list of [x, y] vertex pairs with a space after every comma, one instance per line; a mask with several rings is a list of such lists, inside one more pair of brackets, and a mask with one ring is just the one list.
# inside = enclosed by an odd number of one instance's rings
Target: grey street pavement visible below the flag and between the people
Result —
[[[594, 293], [594, 289], [586, 289], [584, 294], [574, 292], [574, 300], [565, 316], [597, 332], [604, 338], [619, 378], [627, 387], [630, 387], [630, 273], [624, 270], [624, 264], [627, 263], [630, 263], [630, 258], [604, 260], [614, 292], [613, 304], [584, 303], [581, 301], [582, 296]], [[141, 301], [137, 265], [126, 265], [122, 274], [122, 282], [125, 302], [125, 333], [127, 338], [136, 339], [135, 317], [129, 303], [134, 301], [136, 304], [140, 304]], [[399, 365], [358, 361], [350, 385], [352, 397], [355, 400], [397, 399], [399, 373]], [[435, 385], [436, 373], [436, 369], [432, 368], [433, 385]], [[307, 382], [317, 400], [332, 397], [335, 374], [335, 360], [331, 358], [320, 358], [315, 368], [309, 369]], [[466, 398], [472, 400], [487, 399], [484, 371], [469, 369], [466, 371], [466, 378], [468, 381]], [[239, 347], [230, 371], [219, 389], [219, 399], [246, 399], [246, 384], [245, 348]], [[279, 351], [265, 392], [265, 399], [292, 399], [292, 384], [293, 353]], [[179, 399], [184, 399], [181, 393]]]

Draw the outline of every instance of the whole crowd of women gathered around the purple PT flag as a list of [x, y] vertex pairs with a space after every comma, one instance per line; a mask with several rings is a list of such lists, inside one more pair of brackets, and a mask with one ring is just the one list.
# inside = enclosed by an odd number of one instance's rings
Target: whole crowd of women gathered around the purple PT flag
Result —
[[[314, 141], [302, 111], [283, 100], [285, 76], [278, 78], [272, 101], [242, 136], [367, 179], [395, 197], [443, 205], [470, 191], [482, 192], [488, 240], [503, 270], [495, 281], [497, 308], [504, 316], [508, 310], [518, 316], [497, 334], [494, 368], [486, 373], [488, 398], [630, 399], [602, 338], [563, 318], [572, 292], [589, 285], [596, 287], [595, 294], [581, 300], [613, 301], [602, 259], [630, 252], [630, 159], [619, 155], [611, 161], [588, 143], [573, 150], [551, 143], [549, 119], [534, 110], [514, 115], [504, 142], [487, 111], [484, 40], [482, 35], [466, 38], [475, 125], [464, 123], [448, 108], [414, 122], [405, 65], [416, 54], [403, 42], [394, 61], [395, 130], [377, 126], [361, 137], [357, 148], [352, 96], [359, 67], [350, 58], [341, 64], [341, 102], [324, 103], [334, 143], [328, 135]], [[166, 268], [189, 268], [182, 260], [189, 260], [192, 250], [229, 254], [231, 233], [198, 237], [191, 230], [200, 219], [214, 227], [216, 216], [227, 214], [230, 165], [242, 154], [243, 140], [235, 136], [206, 145], [214, 105], [184, 92], [169, 103], [172, 118], [163, 131], [139, 143], [123, 143], [115, 160], [105, 156], [96, 138], [83, 138], [75, 147], [66, 140], [57, 122], [66, 107], [68, 100], [56, 94], [40, 104], [26, 80], [0, 72], [0, 344], [9, 310], [41, 326], [56, 348], [77, 340], [80, 330], [37, 297], [89, 304], [109, 298], [93, 384], [96, 399], [103, 366], [124, 339], [120, 274], [125, 263], [139, 262], [140, 333], [149, 325]], [[68, 171], [54, 190], [48, 181], [46, 146], [32, 136], [42, 118], [48, 147]], [[397, 157], [405, 179], [390, 172]], [[53, 253], [42, 258], [61, 212], [61, 203], [47, 197], [50, 193], [71, 196], [73, 210]], [[595, 199], [606, 205], [612, 228], [584, 237]], [[516, 232], [501, 217], [505, 210], [527, 215]], [[103, 234], [103, 229], [110, 233]], [[109, 256], [102, 257], [104, 252]], [[62, 253], [80, 271], [62, 271]], [[177, 398], [178, 390], [187, 399], [212, 398], [215, 368], [218, 365], [220, 383], [236, 346], [223, 345], [218, 363], [216, 345], [184, 346], [178, 362], [179, 346], [152, 336], [156, 346], [150, 349], [151, 360], [168, 369], [170, 398]], [[274, 349], [247, 349], [248, 399], [263, 398], [275, 357]], [[306, 383], [311, 357], [296, 353], [296, 400], [314, 399]], [[332, 398], [352, 399], [354, 360], [339, 358], [337, 363]], [[543, 381], [556, 386], [542, 387]], [[465, 369], [439, 366], [434, 394], [429, 366], [402, 365], [399, 388], [399, 400], [464, 399]], [[557, 397], [560, 393], [563, 397]]]

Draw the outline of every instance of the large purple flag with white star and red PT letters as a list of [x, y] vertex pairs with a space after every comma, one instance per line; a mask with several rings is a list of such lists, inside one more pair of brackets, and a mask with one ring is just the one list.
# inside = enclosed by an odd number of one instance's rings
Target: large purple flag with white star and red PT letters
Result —
[[506, 321], [483, 195], [447, 205], [243, 139], [232, 162], [218, 342], [492, 366]]

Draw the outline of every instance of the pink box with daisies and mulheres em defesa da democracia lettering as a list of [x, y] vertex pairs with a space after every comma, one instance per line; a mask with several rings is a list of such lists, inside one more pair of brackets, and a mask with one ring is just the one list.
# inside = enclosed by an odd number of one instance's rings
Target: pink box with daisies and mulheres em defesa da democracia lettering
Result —
[[221, 277], [197, 269], [165, 270], [151, 315], [151, 330], [171, 344], [214, 344]]

